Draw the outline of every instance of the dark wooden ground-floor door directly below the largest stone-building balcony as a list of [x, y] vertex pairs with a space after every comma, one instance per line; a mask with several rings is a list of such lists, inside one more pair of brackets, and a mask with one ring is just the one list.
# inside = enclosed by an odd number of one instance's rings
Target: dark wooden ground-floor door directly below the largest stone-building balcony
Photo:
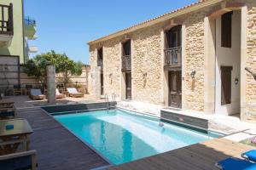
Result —
[[169, 105], [182, 107], [181, 71], [169, 71]]

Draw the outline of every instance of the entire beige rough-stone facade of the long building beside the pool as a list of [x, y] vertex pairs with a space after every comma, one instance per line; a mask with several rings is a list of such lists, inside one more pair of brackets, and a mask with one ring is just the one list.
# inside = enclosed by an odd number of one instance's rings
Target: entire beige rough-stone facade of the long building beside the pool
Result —
[[[230, 0], [228, 3], [244, 3], [247, 6], [247, 59], [246, 65], [256, 72], [256, 1]], [[218, 8], [216, 3], [199, 8], [189, 14], [173, 18], [183, 25], [183, 109], [204, 111], [205, 95], [205, 17]], [[172, 20], [172, 19], [170, 19]], [[153, 26], [131, 31], [119, 37], [90, 44], [90, 65], [96, 66], [96, 49], [103, 47], [104, 93], [117, 94], [121, 98], [121, 46], [125, 36], [131, 38], [132, 100], [155, 105], [165, 105], [163, 27], [170, 23], [164, 20]], [[180, 23], [180, 22], [179, 22]], [[196, 71], [191, 79], [191, 71]], [[146, 76], [145, 76], [146, 75]], [[256, 81], [246, 73], [246, 119], [256, 119]]]

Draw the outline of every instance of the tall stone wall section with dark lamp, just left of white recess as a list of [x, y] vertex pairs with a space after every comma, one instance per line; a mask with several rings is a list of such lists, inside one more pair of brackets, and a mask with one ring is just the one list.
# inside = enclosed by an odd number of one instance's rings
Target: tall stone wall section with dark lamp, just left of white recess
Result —
[[[204, 17], [205, 12], [200, 11], [188, 14], [184, 20], [185, 25], [185, 103], [187, 110], [204, 111]], [[195, 78], [190, 74], [195, 72]]]

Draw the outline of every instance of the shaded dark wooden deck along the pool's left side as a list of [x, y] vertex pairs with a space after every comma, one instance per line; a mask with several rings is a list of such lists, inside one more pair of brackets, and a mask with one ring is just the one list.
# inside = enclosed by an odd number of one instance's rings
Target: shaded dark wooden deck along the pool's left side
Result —
[[84, 170], [108, 165], [40, 108], [17, 112], [32, 126], [31, 149], [38, 151], [38, 169]]

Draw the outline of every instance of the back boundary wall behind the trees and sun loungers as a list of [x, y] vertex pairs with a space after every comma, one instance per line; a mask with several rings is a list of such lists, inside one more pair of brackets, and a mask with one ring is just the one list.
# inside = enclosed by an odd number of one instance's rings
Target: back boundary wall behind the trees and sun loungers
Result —
[[[6, 95], [13, 94], [14, 85], [20, 83], [21, 87], [32, 85], [34, 88], [39, 88], [40, 83], [36, 77], [28, 77], [23, 71], [23, 66], [19, 65], [18, 58], [13, 56], [0, 56], [0, 92], [5, 92]], [[16, 61], [17, 60], [17, 61]], [[4, 65], [3, 65], [4, 63]], [[62, 73], [56, 74], [56, 82], [62, 83]], [[72, 76], [67, 87], [78, 85], [79, 91], [84, 93], [91, 92], [90, 84], [90, 65], [83, 66], [83, 71], [80, 76]]]

